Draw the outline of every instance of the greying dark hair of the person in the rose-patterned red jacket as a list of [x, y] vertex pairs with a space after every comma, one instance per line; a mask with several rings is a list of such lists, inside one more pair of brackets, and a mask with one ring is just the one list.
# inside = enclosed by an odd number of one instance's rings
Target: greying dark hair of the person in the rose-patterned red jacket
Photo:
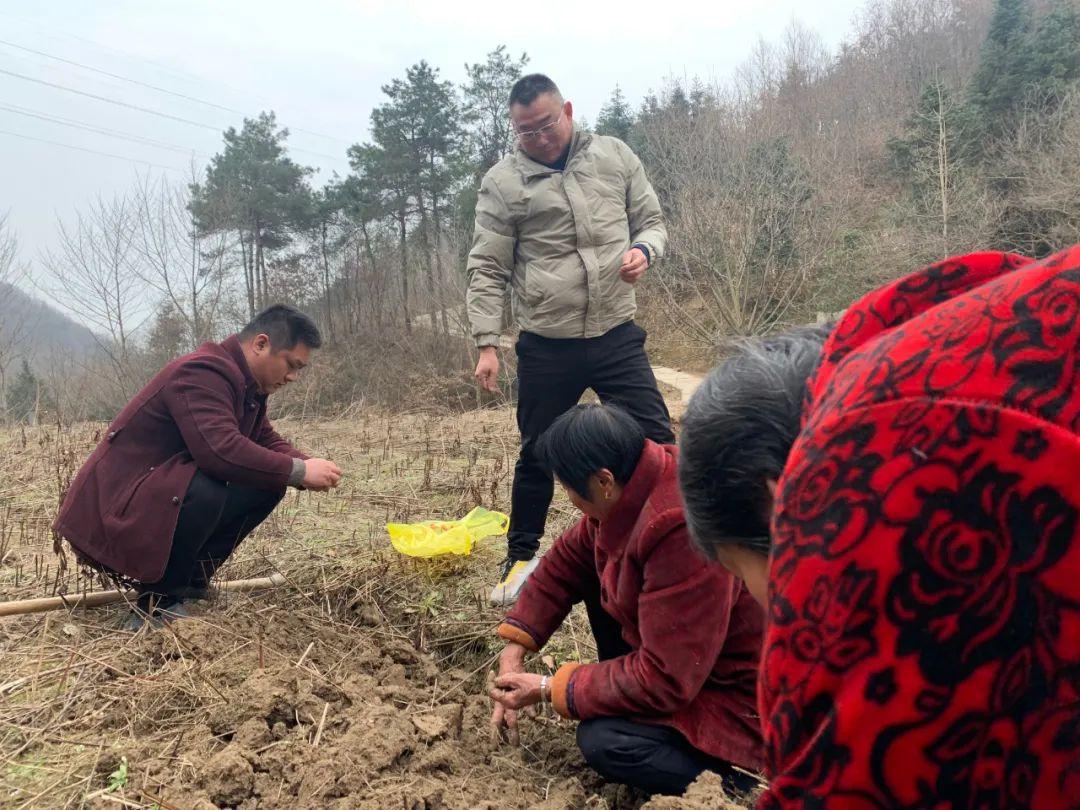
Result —
[[832, 325], [744, 343], [694, 391], [683, 416], [679, 488], [694, 543], [768, 555], [768, 481], [777, 481], [799, 434], [807, 382]]

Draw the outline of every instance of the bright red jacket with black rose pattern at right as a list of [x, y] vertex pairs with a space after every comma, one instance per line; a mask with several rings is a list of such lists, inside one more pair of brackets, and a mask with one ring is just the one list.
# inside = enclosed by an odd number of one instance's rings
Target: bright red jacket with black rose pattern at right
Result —
[[873, 293], [773, 515], [767, 808], [1080, 807], [1080, 248]]

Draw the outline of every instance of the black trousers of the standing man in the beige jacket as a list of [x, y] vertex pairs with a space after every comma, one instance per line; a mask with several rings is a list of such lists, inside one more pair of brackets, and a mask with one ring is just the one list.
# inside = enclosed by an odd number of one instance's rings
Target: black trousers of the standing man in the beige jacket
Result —
[[510, 496], [510, 556], [529, 559], [540, 548], [554, 495], [551, 473], [532, 450], [540, 435], [578, 403], [586, 389], [617, 405], [653, 442], [671, 444], [667, 406], [645, 354], [645, 329], [627, 321], [595, 338], [544, 338], [523, 332], [517, 338], [517, 429], [522, 453]]

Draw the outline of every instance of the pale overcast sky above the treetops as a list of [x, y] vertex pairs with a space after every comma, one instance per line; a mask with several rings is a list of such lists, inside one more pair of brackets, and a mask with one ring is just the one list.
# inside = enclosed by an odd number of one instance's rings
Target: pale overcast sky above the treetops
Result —
[[0, 212], [32, 260], [57, 215], [125, 190], [139, 172], [181, 179], [243, 114], [274, 110], [316, 183], [346, 173], [345, 150], [367, 137], [380, 85], [420, 59], [460, 82], [464, 63], [499, 44], [527, 52], [530, 69], [595, 122], [617, 83], [636, 107], [667, 77], [725, 81], [758, 38], [777, 41], [795, 18], [835, 48], [864, 2], [3, 0]]

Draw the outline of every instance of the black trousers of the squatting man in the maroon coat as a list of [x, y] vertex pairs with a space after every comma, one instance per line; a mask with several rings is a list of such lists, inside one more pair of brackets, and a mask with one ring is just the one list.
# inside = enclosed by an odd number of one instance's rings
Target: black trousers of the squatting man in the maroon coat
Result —
[[144, 583], [143, 595], [167, 599], [186, 588], [205, 586], [284, 495], [225, 484], [197, 472], [180, 504], [165, 573], [157, 582]]

